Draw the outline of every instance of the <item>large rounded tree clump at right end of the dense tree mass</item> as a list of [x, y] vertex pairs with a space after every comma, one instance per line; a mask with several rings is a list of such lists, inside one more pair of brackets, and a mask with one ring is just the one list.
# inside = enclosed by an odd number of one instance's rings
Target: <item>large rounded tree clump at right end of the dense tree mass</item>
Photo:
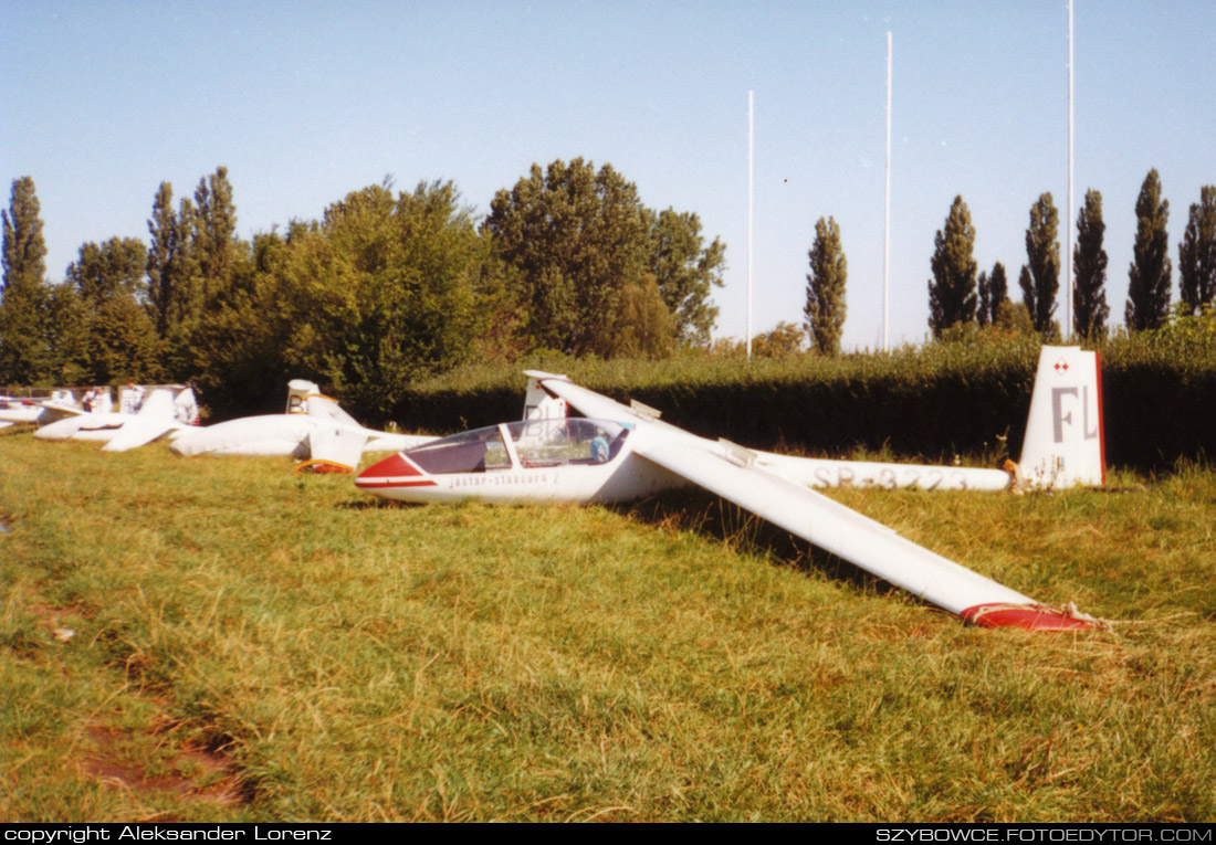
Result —
[[708, 342], [717, 315], [709, 293], [721, 285], [726, 247], [717, 238], [703, 246], [694, 214], [647, 209], [609, 164], [598, 171], [581, 158], [545, 170], [533, 164], [513, 188], [497, 192], [482, 232], [516, 280], [528, 348], [623, 354], [615, 339], [626, 337], [617, 331], [625, 297], [636, 312], [648, 299], [647, 275], [676, 337]]

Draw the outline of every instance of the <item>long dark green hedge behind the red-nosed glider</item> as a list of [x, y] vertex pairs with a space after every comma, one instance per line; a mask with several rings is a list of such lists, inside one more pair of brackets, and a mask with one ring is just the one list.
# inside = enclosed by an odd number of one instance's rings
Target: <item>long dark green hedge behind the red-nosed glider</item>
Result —
[[[1142, 334], [1099, 348], [1108, 462], [1142, 471], [1216, 455], [1216, 339]], [[755, 447], [895, 457], [993, 458], [1021, 449], [1037, 343], [986, 338], [890, 354], [668, 361], [537, 359], [415, 384], [395, 409], [410, 430], [449, 433], [523, 410], [524, 368], [637, 399], [691, 432]]]

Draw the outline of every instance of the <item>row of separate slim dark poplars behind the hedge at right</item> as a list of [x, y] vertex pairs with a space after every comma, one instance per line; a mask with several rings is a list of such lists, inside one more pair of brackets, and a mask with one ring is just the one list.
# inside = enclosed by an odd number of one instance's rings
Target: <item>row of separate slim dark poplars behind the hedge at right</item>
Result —
[[[1166, 224], [1170, 203], [1161, 196], [1161, 181], [1150, 170], [1136, 201], [1136, 243], [1128, 267], [1128, 292], [1124, 319], [1133, 332], [1160, 328], [1171, 314], [1172, 263], [1169, 257]], [[1021, 302], [1009, 297], [1004, 265], [980, 271], [974, 259], [975, 226], [963, 198], [955, 202], [942, 229], [934, 238], [929, 266], [929, 328], [942, 339], [993, 326], [1013, 333], [1062, 336], [1055, 319], [1059, 292], [1059, 213], [1051, 193], [1043, 193], [1030, 208], [1026, 229], [1026, 264], [1018, 276]], [[1076, 246], [1073, 249], [1073, 334], [1097, 340], [1109, 332], [1107, 320], [1107, 252], [1103, 247], [1102, 193], [1086, 191], [1077, 213]], [[844, 326], [848, 261], [840, 243], [840, 227], [833, 218], [820, 218], [807, 253], [806, 305], [803, 325], [779, 323], [753, 339], [761, 354], [800, 351], [809, 337], [812, 349], [823, 354], [840, 350]], [[1182, 316], [1211, 312], [1216, 299], [1216, 186], [1205, 185], [1200, 199], [1190, 205], [1186, 232], [1178, 243], [1178, 294], [1175, 311]], [[805, 331], [805, 336], [803, 332]], [[738, 344], [726, 344], [738, 345]]]

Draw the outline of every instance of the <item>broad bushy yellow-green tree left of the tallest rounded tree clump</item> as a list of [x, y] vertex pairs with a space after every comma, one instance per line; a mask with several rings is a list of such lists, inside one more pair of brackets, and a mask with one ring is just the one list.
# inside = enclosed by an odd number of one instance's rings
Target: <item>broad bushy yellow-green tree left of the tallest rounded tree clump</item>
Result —
[[248, 281], [193, 332], [199, 387], [227, 411], [291, 372], [389, 417], [411, 381], [469, 355], [489, 252], [451, 182], [354, 191], [320, 221], [255, 238]]

